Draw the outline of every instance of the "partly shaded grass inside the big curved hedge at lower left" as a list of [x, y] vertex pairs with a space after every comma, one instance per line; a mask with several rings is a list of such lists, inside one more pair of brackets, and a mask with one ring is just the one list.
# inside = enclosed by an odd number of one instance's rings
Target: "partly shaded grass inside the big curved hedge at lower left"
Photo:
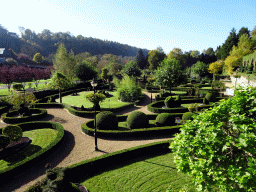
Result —
[[0, 170], [11, 168], [15, 163], [23, 161], [27, 157], [37, 153], [39, 150], [47, 147], [56, 139], [57, 133], [56, 130], [50, 128], [24, 131], [23, 137], [29, 137], [32, 140], [31, 144], [15, 155], [1, 159]]

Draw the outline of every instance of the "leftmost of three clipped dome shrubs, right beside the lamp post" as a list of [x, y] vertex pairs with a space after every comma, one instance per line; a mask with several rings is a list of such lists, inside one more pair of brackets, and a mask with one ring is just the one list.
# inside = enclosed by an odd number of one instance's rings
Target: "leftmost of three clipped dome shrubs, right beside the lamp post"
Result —
[[103, 111], [96, 115], [96, 127], [100, 130], [116, 130], [118, 128], [118, 120], [115, 113], [111, 111]]

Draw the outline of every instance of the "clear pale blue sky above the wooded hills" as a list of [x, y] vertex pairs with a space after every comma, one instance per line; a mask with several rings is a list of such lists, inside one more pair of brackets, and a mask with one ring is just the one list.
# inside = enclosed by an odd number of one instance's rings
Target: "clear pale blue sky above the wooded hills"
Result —
[[256, 26], [255, 0], [8, 0], [1, 8], [0, 24], [19, 35], [18, 26], [69, 31], [166, 54], [215, 50], [233, 27]]

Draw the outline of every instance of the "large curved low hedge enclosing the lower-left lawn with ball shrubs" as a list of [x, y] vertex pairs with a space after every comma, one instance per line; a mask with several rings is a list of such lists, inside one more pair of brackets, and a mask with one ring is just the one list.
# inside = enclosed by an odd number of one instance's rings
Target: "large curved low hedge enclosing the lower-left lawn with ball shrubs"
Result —
[[[37, 165], [42, 162], [43, 159], [47, 159], [52, 155], [64, 142], [64, 128], [61, 124], [56, 122], [48, 121], [33, 121], [17, 124], [22, 128], [23, 131], [29, 131], [33, 129], [40, 128], [52, 128], [58, 131], [56, 139], [48, 145], [46, 148], [38, 151], [37, 153], [27, 157], [26, 159], [16, 163], [13, 167], [0, 171], [0, 183], [8, 182], [8, 180], [13, 179], [17, 174], [21, 174], [31, 168], [31, 165]], [[0, 128], [0, 132], [2, 133]]]

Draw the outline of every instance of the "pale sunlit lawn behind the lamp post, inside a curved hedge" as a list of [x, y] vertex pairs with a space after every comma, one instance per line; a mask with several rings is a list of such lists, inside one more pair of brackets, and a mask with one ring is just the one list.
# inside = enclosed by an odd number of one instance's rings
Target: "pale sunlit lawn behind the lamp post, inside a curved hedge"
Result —
[[[85, 96], [84, 96], [84, 95], [89, 94], [89, 93], [93, 93], [93, 91], [79, 92], [78, 96], [68, 95], [68, 96], [62, 97], [62, 103], [67, 103], [69, 105], [73, 105], [73, 106], [76, 106], [76, 107], [81, 107], [83, 105], [85, 108], [92, 108], [93, 104], [90, 101], [86, 100]], [[122, 107], [126, 104], [129, 104], [128, 102], [118, 101], [116, 92], [111, 92], [110, 91], [109, 93], [111, 95], [113, 95], [113, 97], [106, 98], [104, 101], [102, 101], [100, 103], [101, 108]], [[110, 100], [110, 102], [109, 102], [109, 100]], [[56, 99], [56, 102], [60, 102], [60, 100]]]

